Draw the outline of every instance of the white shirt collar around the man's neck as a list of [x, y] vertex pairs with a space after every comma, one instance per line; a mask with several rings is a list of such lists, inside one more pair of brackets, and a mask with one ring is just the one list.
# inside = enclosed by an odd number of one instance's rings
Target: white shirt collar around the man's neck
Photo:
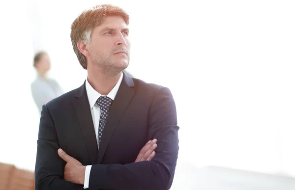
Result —
[[[111, 98], [112, 100], [115, 100], [115, 97], [117, 95], [117, 92], [118, 92], [118, 89], [119, 89], [120, 84], [122, 82], [122, 79], [123, 79], [123, 73], [121, 73], [121, 76], [120, 76], [117, 84], [110, 91], [110, 93], [107, 95], [107, 97]], [[103, 95], [101, 95], [96, 90], [94, 90], [94, 88], [89, 84], [88, 79], [86, 79], [85, 85], [86, 85], [86, 92], [87, 92], [87, 96], [88, 96], [88, 100], [89, 100], [89, 106], [90, 106], [90, 109], [92, 109], [93, 106], [95, 105], [97, 99]]]

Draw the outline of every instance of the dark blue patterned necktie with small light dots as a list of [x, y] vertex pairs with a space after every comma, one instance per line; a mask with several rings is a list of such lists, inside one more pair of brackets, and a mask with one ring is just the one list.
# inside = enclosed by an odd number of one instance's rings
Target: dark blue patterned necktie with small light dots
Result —
[[96, 101], [96, 104], [101, 110], [100, 119], [99, 119], [99, 127], [98, 127], [98, 144], [100, 144], [103, 128], [106, 124], [106, 120], [109, 114], [109, 110], [111, 108], [113, 100], [107, 96], [101, 96]]

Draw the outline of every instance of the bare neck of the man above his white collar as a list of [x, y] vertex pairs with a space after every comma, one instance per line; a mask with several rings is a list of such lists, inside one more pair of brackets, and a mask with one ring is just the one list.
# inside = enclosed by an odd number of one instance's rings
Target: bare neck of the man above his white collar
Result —
[[93, 72], [93, 70], [91, 71], [92, 72], [89, 72], [88, 70], [87, 76], [89, 84], [94, 88], [94, 90], [104, 96], [111, 92], [122, 75], [122, 72], [118, 73], [117, 75], [109, 76], [99, 70], [96, 70], [95, 72]]

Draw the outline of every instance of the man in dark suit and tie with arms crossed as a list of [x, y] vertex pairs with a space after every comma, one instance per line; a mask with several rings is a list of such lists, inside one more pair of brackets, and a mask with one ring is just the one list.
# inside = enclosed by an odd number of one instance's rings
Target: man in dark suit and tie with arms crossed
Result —
[[88, 77], [43, 105], [36, 190], [168, 190], [178, 154], [170, 90], [133, 79], [129, 16], [113, 5], [84, 11], [71, 40]]

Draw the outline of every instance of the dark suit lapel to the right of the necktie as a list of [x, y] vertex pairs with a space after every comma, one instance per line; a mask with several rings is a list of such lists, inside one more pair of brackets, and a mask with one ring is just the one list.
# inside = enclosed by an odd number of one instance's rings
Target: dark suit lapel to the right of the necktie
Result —
[[112, 107], [106, 120], [105, 127], [103, 129], [96, 163], [101, 163], [102, 161], [102, 158], [106, 152], [111, 137], [118, 126], [120, 118], [135, 93], [135, 89], [133, 87], [134, 82], [132, 78], [124, 73], [123, 80], [120, 84], [118, 93], [112, 104]]

